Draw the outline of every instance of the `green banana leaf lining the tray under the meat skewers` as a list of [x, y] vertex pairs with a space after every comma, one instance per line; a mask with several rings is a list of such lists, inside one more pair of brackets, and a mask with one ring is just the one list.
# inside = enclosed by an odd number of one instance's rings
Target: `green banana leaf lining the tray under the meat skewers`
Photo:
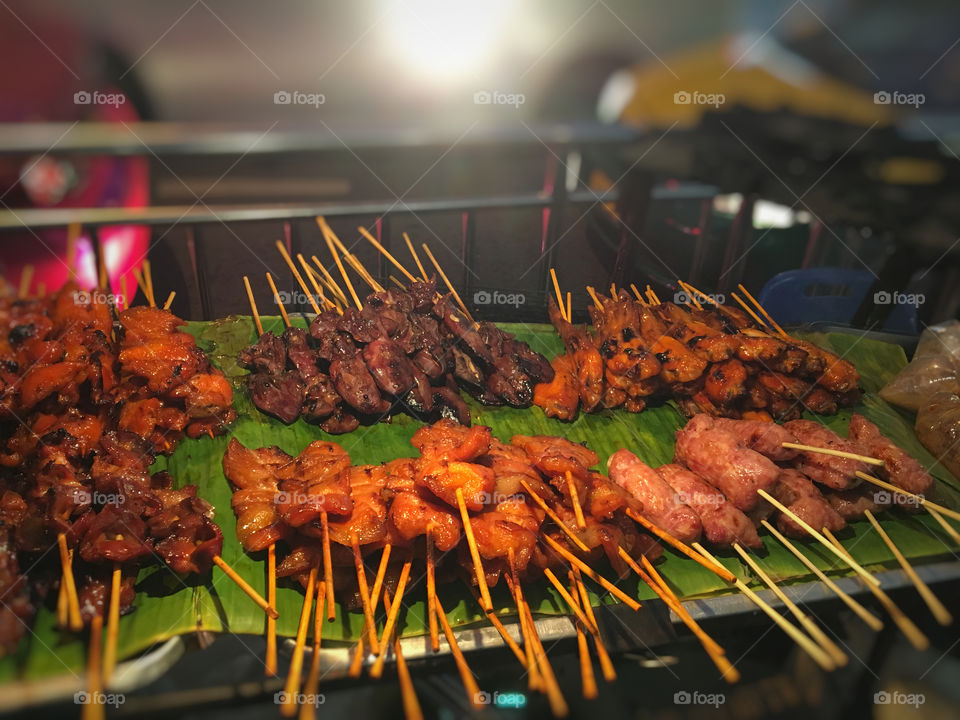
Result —
[[[279, 318], [263, 320], [265, 329], [276, 332], [282, 330]], [[559, 338], [548, 325], [505, 324], [503, 327], [547, 357], [553, 357], [562, 350]], [[354, 463], [380, 463], [415, 455], [410, 438], [421, 423], [410, 416], [397, 415], [389, 423], [361, 426], [352, 433], [339, 436], [327, 435], [319, 427], [303, 420], [297, 420], [289, 426], [283, 425], [254, 407], [244, 384], [246, 370], [237, 364], [240, 349], [256, 338], [249, 317], [231, 317], [209, 323], [194, 322], [189, 323], [186, 329], [234, 383], [238, 419], [225, 437], [183, 440], [170, 456], [158, 458], [153, 469], [168, 470], [178, 484], [199, 485], [201, 496], [216, 508], [216, 522], [224, 534], [224, 559], [265, 595], [265, 557], [262, 554], [256, 556], [245, 553], [236, 539], [236, 523], [230, 507], [231, 491], [221, 467], [229, 438], [235, 437], [251, 447], [277, 445], [293, 455], [314, 440], [329, 439], [340, 443]], [[811, 334], [807, 337], [851, 360], [860, 370], [866, 391], [857, 407], [820, 419], [837, 432], [846, 434], [851, 414], [864, 414], [930, 469], [939, 481], [933, 499], [951, 507], [960, 507], [960, 484], [920, 445], [913, 432], [912, 418], [876, 395], [906, 364], [903, 350], [899, 346], [843, 334]], [[564, 436], [575, 442], [585, 442], [600, 456], [602, 468], [607, 458], [622, 447], [632, 450], [651, 465], [670, 462], [673, 458], [674, 433], [684, 423], [684, 417], [672, 402], [650, 407], [640, 414], [623, 411], [581, 414], [573, 422], [548, 418], [537, 407], [524, 410], [486, 407], [472, 400], [469, 404], [474, 422], [489, 425], [493, 434], [502, 440], [509, 441], [517, 433]], [[950, 557], [951, 550], [956, 549], [925, 513], [908, 515], [899, 510], [892, 511], [884, 514], [881, 523], [903, 553], [913, 561]], [[896, 566], [893, 554], [865, 521], [852, 524], [844, 531], [841, 540], [854, 557], [868, 568]], [[759, 552], [759, 560], [773, 578], [788, 583], [811, 578], [806, 568], [773, 538], [764, 534], [764, 543], [765, 549]], [[838, 575], [849, 574], [843, 567], [837, 567], [833, 556], [816, 543], [796, 544], [820, 569]], [[719, 559], [733, 572], [752, 582], [749, 569], [735, 554], [720, 553]], [[726, 583], [671, 548], [666, 549], [658, 569], [683, 597], [707, 597], [730, 592]], [[609, 568], [604, 574], [608, 578], [613, 577]], [[641, 600], [654, 597], [653, 592], [633, 576], [620, 581], [620, 586]], [[120, 658], [135, 655], [179, 634], [199, 631], [237, 634], [264, 632], [263, 613], [218, 569], [200, 578], [182, 578], [162, 567], [144, 569], [138, 578], [137, 590], [134, 612], [120, 621]], [[481, 622], [479, 608], [463, 583], [444, 584], [440, 592], [451, 625], [457, 627]], [[426, 631], [425, 594], [422, 572], [415, 569], [405, 596], [406, 609], [398, 623], [398, 628], [404, 634], [416, 635]], [[499, 611], [509, 613], [506, 593], [495, 588], [493, 595]], [[538, 613], [565, 612], [562, 600], [546, 582], [529, 583], [527, 595]], [[597, 596], [593, 596], [593, 600], [601, 602]], [[616, 602], [609, 596], [602, 601]], [[287, 636], [296, 633], [302, 602], [303, 593], [299, 587], [286, 584], [278, 587], [278, 633]], [[362, 628], [362, 613], [345, 612], [340, 606], [336, 621], [326, 623], [324, 641], [349, 642], [359, 637]], [[38, 678], [64, 672], [79, 673], [83, 668], [84, 655], [84, 643], [56, 630], [54, 613], [50, 608], [43, 608], [37, 615], [33, 633], [24, 640], [17, 653], [0, 662], [0, 679], [12, 679], [18, 675]]]

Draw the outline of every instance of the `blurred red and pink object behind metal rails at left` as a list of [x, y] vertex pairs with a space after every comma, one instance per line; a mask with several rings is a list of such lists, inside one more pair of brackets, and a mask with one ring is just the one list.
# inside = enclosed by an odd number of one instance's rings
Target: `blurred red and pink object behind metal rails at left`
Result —
[[[44, 38], [41, 44], [18, 22], [0, 24], [0, 63], [16, 72], [0, 73], [2, 122], [137, 122], [139, 114], [117, 88], [83, 72], [97, 66], [98, 48], [85, 46], [76, 31], [38, 17], [30, 7], [12, 3], [11, 12]], [[114, 94], [113, 102], [86, 102], [94, 91], [98, 99]], [[86, 93], [84, 95], [83, 93]], [[65, 128], [66, 129], [66, 128]], [[28, 158], [0, 161], [0, 202], [14, 212], [20, 208], [144, 207], [149, 204], [149, 175], [143, 157], [62, 156], [56, 148]], [[120, 278], [142, 263], [149, 247], [149, 228], [108, 226], [98, 232], [112, 292], [120, 292]], [[66, 265], [67, 229], [7, 233], [0, 237], [0, 271], [18, 286], [24, 268], [32, 265], [35, 292], [60, 287], [69, 275]], [[83, 233], [77, 241], [77, 282], [97, 284], [93, 238]], [[127, 291], [136, 292], [132, 275]]]

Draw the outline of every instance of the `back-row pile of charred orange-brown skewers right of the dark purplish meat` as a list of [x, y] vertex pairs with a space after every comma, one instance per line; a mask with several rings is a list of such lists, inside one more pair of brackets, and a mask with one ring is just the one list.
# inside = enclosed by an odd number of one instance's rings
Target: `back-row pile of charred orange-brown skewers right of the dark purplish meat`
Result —
[[[860, 396], [851, 363], [787, 335], [769, 316], [770, 326], [764, 324], [736, 293], [746, 314], [686, 283], [687, 307], [660, 302], [649, 288], [644, 297], [632, 285], [635, 298], [615, 287], [610, 297], [587, 288], [594, 300], [590, 332], [571, 323], [552, 277], [557, 302], [549, 301], [550, 320], [567, 352], [552, 362], [553, 381], [534, 391], [534, 403], [551, 417], [619, 407], [640, 412], [651, 400], [673, 398], [690, 416], [789, 420], [804, 409], [835, 413]], [[710, 302], [701, 305], [698, 296]]]

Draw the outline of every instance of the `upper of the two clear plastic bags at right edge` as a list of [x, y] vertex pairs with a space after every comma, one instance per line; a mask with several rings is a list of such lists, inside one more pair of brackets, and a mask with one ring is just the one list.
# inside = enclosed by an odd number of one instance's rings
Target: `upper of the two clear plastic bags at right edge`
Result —
[[939, 393], [960, 395], [960, 322], [956, 320], [920, 334], [913, 360], [880, 391], [880, 397], [919, 412]]

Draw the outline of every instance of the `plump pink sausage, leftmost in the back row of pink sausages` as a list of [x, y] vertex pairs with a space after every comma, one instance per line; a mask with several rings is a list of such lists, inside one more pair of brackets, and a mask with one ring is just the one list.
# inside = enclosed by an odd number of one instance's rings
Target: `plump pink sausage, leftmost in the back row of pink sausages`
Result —
[[759, 499], [757, 491], [769, 491], [780, 475], [773, 462], [743, 447], [708, 415], [695, 415], [677, 431], [674, 453], [676, 462], [719, 489], [743, 512], [752, 510]]

